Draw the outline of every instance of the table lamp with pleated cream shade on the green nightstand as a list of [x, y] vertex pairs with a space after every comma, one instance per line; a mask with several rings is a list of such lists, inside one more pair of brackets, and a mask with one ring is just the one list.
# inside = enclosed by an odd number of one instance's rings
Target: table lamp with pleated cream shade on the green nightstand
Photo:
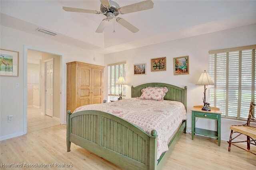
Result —
[[204, 98], [203, 98], [204, 106], [202, 107], [202, 110], [211, 111], [210, 103], [206, 102], [206, 97], [205, 97], [206, 89], [207, 89], [205, 86], [206, 85], [214, 85], [214, 82], [210, 78], [209, 73], [204, 70], [204, 72], [202, 72], [196, 85], [204, 85]]

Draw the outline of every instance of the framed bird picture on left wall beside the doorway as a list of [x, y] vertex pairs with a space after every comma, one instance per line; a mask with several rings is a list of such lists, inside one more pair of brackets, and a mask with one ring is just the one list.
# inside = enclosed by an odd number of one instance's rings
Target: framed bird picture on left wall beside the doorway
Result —
[[19, 52], [0, 49], [0, 76], [19, 76]]

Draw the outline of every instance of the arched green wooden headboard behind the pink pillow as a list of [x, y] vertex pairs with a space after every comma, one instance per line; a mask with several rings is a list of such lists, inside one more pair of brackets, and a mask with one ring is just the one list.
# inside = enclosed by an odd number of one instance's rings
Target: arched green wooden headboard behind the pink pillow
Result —
[[168, 92], [164, 96], [164, 100], [173, 100], [178, 101], [184, 104], [187, 109], [187, 86], [180, 88], [171, 84], [165, 83], [147, 83], [141, 84], [139, 86], [132, 86], [132, 98], [140, 97], [142, 92], [141, 90], [146, 87], [167, 87]]

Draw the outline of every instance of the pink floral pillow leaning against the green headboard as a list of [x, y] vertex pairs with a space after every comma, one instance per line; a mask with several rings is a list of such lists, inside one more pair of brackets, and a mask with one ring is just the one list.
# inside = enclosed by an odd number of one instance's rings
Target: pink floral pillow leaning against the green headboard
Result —
[[165, 94], [168, 92], [167, 87], [147, 87], [141, 90], [140, 99], [164, 100]]

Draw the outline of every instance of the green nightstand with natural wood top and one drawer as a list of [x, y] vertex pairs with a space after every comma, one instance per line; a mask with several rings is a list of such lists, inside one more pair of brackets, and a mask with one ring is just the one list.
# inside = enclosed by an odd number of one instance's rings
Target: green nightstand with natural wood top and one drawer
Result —
[[[221, 123], [221, 111], [217, 107], [211, 107], [211, 111], [202, 110], [202, 106], [194, 106], [192, 109], [192, 140], [194, 140], [195, 134], [204, 135], [218, 139], [218, 146], [220, 146], [220, 123]], [[214, 119], [217, 121], [217, 131], [210, 131], [206, 129], [196, 128], [196, 117], [204, 119]]]

